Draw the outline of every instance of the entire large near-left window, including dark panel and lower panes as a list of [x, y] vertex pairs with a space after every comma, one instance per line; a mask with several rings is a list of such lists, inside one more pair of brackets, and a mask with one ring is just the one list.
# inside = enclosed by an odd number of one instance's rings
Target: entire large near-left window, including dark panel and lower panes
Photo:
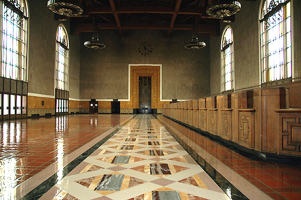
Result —
[[26, 0], [2, 0], [0, 4], [0, 119], [15, 119], [26, 117], [28, 7]]

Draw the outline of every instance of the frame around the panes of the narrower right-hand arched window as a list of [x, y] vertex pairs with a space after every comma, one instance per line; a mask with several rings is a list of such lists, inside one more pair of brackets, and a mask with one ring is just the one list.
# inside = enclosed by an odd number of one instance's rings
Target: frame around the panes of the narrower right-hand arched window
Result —
[[[227, 42], [227, 44], [225, 43], [225, 34], [227, 32], [227, 30], [231, 30], [231, 42]], [[234, 82], [234, 36], [233, 36], [233, 29], [231, 28], [231, 26], [227, 25], [225, 28], [224, 28], [224, 31], [223, 31], [223, 34], [222, 34], [222, 38], [221, 38], [221, 46], [220, 46], [220, 51], [221, 51], [221, 92], [227, 92], [227, 91], [234, 91], [234, 86], [235, 86], [235, 82]], [[225, 59], [226, 57], [224, 57], [224, 52], [230, 48], [230, 67], [231, 67], [231, 70], [230, 70], [230, 83], [231, 83], [231, 89], [227, 89], [226, 90], [226, 83], [229, 82], [226, 81], [225, 79], [225, 76], [226, 76], [226, 72], [225, 72], [225, 67], [226, 65], [224, 64], [225, 63]]]

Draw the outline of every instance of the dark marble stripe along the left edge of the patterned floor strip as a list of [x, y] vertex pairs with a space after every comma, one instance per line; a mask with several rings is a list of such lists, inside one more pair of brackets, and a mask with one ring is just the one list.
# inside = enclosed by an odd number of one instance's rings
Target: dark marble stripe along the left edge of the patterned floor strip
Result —
[[[108, 139], [110, 139], [116, 132], [118, 132], [125, 124], [127, 124], [129, 121], [131, 121], [133, 118], [135, 118], [137, 115], [134, 115], [131, 119], [126, 121], [124, 124], [116, 128], [113, 132], [108, 134], [106, 137], [104, 137], [102, 140], [97, 142], [95, 145], [93, 145], [91, 148], [86, 150], [84, 153], [82, 153], [80, 156], [75, 158], [73, 161], [71, 161], [69, 164], [67, 164], [63, 169], [63, 177], [65, 177], [70, 171], [72, 171], [77, 165], [79, 165], [84, 159], [86, 159], [91, 153], [93, 153], [96, 149], [98, 149], [104, 142], [106, 142]], [[25, 196], [21, 198], [21, 200], [37, 200], [41, 196], [43, 196], [49, 189], [51, 189], [58, 181], [57, 173], [53, 174], [50, 178], [45, 180], [43, 183], [41, 183], [39, 186], [31, 190], [29, 193], [27, 193]]]

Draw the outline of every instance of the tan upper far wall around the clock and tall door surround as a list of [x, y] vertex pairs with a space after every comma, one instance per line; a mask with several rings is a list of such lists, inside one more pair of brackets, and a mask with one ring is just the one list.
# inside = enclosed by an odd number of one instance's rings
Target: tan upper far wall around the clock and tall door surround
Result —
[[[209, 36], [207, 47], [193, 51], [184, 48], [191, 40], [189, 31], [173, 31], [166, 39], [166, 30], [125, 30], [121, 39], [116, 30], [100, 30], [99, 38], [106, 42], [102, 50], [90, 50], [83, 43], [91, 34], [81, 34], [81, 99], [127, 99], [128, 64], [162, 64], [162, 98], [193, 99], [208, 95]], [[152, 44], [153, 53], [140, 55], [139, 44]]]

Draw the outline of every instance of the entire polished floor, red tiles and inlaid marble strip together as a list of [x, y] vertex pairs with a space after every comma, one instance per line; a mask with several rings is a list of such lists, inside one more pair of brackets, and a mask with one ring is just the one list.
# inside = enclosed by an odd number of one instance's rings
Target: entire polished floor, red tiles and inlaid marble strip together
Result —
[[300, 167], [249, 160], [162, 115], [3, 121], [0, 139], [1, 200], [301, 196]]

